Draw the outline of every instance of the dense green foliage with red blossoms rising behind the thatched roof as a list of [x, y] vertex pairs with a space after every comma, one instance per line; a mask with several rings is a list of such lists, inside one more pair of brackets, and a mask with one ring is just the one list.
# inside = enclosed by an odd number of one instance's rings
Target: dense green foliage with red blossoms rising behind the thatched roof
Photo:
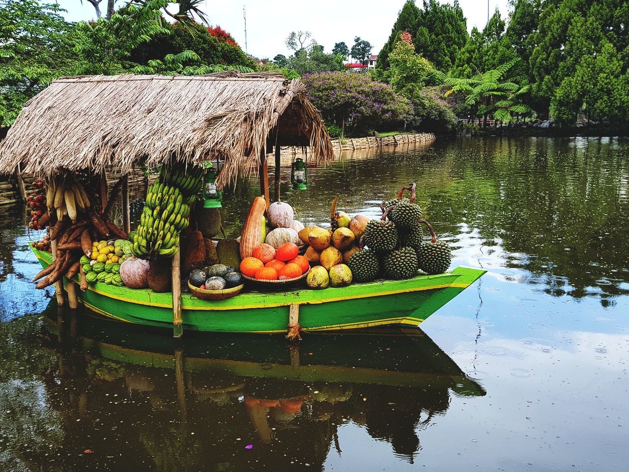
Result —
[[68, 23], [56, 4], [7, 0], [0, 8], [0, 123], [11, 125], [28, 99], [61, 76], [253, 70], [228, 33], [191, 20], [194, 1], [180, 5], [186, 14], [174, 25], [162, 18], [169, 3], [131, 1], [110, 19]]

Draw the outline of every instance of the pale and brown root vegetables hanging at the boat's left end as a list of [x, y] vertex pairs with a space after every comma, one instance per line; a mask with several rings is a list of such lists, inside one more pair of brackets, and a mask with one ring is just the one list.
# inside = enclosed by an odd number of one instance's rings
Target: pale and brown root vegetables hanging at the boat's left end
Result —
[[[33, 282], [35, 288], [45, 288], [64, 276], [74, 278], [81, 273], [81, 289], [87, 289], [87, 280], [81, 266], [81, 257], [89, 257], [92, 241], [101, 239], [126, 239], [127, 235], [109, 220], [109, 212], [120, 192], [120, 179], [109, 196], [107, 205], [99, 210], [84, 190], [79, 177], [65, 174], [45, 182], [45, 204], [50, 241], [57, 241], [55, 257], [50, 266], [38, 273]], [[40, 224], [41, 226], [41, 224]]]

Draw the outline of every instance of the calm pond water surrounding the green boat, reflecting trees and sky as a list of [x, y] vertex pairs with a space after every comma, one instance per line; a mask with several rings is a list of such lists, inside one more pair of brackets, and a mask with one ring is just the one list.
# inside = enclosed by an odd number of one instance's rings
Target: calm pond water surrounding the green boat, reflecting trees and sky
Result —
[[[311, 177], [283, 198], [306, 224], [415, 181], [486, 276], [423, 332], [174, 344], [58, 312], [4, 216], [0, 470], [626, 470], [629, 141], [442, 140]], [[229, 233], [256, 192], [228, 196]]]

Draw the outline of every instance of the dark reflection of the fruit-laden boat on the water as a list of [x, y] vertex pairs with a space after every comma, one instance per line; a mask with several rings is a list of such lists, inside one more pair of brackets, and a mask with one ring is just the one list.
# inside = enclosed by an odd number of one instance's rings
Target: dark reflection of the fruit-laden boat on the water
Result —
[[173, 351], [159, 334], [70, 316], [43, 325], [60, 365], [47, 398], [64, 417], [66, 441], [106, 431], [97, 446], [109, 459], [94, 454], [92, 470], [291, 461], [321, 470], [331, 448], [352, 446], [338, 430], [351, 424], [412, 461], [418, 434], [447, 412], [451, 395], [485, 395], [421, 330], [316, 334], [288, 347], [272, 336], [189, 336]]

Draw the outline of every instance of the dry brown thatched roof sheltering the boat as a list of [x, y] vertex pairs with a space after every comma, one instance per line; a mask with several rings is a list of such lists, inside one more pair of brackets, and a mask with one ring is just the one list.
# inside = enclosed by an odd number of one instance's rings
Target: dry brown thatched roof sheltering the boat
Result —
[[299, 79], [275, 72], [89, 76], [52, 82], [26, 103], [0, 145], [0, 173], [128, 172], [145, 160], [225, 160], [219, 183], [257, 169], [267, 137], [333, 157], [321, 115]]

